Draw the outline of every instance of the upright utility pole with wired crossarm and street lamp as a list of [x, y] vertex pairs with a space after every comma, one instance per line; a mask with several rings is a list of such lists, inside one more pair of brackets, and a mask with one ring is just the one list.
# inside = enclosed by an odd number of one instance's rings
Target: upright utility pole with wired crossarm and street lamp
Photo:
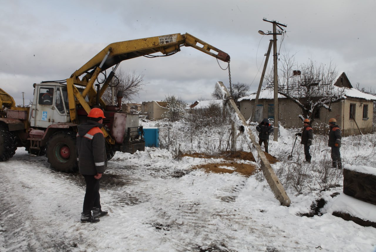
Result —
[[[285, 24], [280, 24], [280, 23], [277, 23], [277, 21], [269, 21], [269, 20], [266, 20], [265, 18], [263, 18], [262, 20], [266, 21], [266, 22], [269, 22], [269, 23], [272, 23], [273, 24], [273, 32], [270, 33], [264, 33], [262, 32], [261, 30], [259, 31], [260, 34], [262, 35], [273, 35], [273, 62], [274, 62], [274, 69], [273, 69], [273, 72], [274, 72], [274, 141], [278, 141], [278, 68], [277, 68], [277, 58], [278, 58], [278, 52], [277, 52], [277, 35], [281, 35], [282, 33], [278, 32], [277, 33], [277, 26], [279, 27], [279, 29], [281, 31], [283, 31], [284, 29], [281, 27], [287, 27]], [[257, 106], [257, 104], [255, 104], [254, 106]]]

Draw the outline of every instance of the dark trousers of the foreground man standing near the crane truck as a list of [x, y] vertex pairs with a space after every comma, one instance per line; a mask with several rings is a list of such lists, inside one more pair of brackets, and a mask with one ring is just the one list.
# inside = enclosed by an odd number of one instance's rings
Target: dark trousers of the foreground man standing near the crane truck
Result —
[[83, 199], [82, 212], [84, 214], [91, 214], [93, 207], [101, 209], [100, 195], [99, 195], [99, 181], [94, 178], [94, 175], [82, 175], [86, 182], [86, 193]]

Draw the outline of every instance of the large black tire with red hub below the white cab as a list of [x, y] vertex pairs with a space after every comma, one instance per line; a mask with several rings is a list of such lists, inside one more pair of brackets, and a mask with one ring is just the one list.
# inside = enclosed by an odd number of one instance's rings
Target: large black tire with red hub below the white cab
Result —
[[47, 162], [59, 172], [76, 172], [76, 135], [74, 132], [58, 132], [47, 143]]

